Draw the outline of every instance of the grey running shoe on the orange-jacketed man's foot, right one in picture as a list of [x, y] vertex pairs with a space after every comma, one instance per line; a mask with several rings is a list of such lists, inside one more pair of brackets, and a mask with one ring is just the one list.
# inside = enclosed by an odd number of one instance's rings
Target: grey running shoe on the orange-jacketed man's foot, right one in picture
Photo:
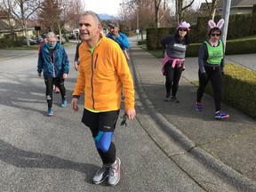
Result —
[[120, 165], [121, 160], [116, 157], [116, 163], [110, 164], [108, 173], [108, 184], [115, 186], [120, 180]]

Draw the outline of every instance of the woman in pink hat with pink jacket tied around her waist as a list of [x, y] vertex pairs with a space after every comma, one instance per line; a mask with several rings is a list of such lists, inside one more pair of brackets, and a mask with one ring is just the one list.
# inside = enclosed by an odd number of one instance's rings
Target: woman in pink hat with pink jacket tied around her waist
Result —
[[181, 73], [185, 69], [185, 54], [190, 41], [188, 36], [189, 30], [190, 24], [183, 21], [174, 35], [165, 36], [160, 40], [164, 48], [162, 73], [165, 76], [165, 101], [180, 102], [176, 94], [179, 88]]

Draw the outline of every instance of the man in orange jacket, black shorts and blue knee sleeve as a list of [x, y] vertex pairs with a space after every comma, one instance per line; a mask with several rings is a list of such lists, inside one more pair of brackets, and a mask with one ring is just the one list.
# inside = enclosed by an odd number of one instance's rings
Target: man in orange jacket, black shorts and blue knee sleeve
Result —
[[77, 102], [84, 95], [82, 122], [90, 128], [95, 147], [100, 155], [102, 167], [92, 182], [100, 184], [108, 177], [109, 185], [120, 180], [121, 161], [116, 157], [116, 146], [112, 141], [121, 106], [121, 88], [125, 94], [124, 113], [132, 120], [136, 116], [132, 74], [119, 45], [101, 31], [99, 16], [84, 12], [79, 20], [79, 31], [83, 43], [79, 47], [80, 66], [71, 108], [77, 111]]

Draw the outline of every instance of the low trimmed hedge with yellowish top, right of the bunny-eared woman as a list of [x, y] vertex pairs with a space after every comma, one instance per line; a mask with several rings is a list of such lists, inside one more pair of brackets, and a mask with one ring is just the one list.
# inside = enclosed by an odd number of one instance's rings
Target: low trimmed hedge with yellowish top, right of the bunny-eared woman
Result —
[[[212, 84], [205, 92], [212, 95]], [[256, 119], [256, 72], [227, 63], [222, 84], [222, 100]]]

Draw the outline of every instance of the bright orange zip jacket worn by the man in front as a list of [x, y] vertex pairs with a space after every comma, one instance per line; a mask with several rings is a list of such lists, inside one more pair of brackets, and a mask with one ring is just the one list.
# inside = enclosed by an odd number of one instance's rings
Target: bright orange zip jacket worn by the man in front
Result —
[[85, 92], [84, 108], [96, 111], [120, 109], [121, 90], [124, 108], [134, 109], [132, 74], [119, 44], [102, 37], [94, 52], [83, 42], [79, 47], [80, 65], [73, 96]]

